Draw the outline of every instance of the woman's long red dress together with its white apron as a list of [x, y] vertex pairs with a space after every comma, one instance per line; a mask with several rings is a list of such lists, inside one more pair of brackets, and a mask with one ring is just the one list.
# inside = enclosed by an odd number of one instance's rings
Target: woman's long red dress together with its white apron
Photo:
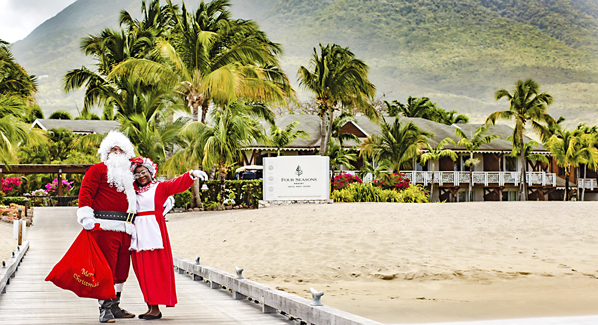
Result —
[[131, 260], [137, 281], [149, 305], [173, 307], [177, 303], [170, 239], [164, 221], [164, 203], [193, 185], [187, 172], [173, 180], [151, 182], [137, 191], [135, 235]]

